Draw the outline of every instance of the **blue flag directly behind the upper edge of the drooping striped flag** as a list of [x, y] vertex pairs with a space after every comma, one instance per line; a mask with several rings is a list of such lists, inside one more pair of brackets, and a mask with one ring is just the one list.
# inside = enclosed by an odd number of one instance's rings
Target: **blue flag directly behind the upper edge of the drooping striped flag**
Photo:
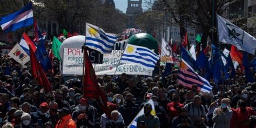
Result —
[[195, 63], [195, 69], [199, 71], [200, 76], [207, 80], [210, 78], [210, 65], [204, 51], [201, 51], [200, 55], [198, 56]]

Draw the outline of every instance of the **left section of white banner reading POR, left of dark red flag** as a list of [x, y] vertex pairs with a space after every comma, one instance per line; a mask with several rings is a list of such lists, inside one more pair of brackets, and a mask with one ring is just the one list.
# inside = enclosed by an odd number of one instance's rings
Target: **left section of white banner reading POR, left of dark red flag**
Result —
[[63, 75], [83, 75], [84, 56], [82, 49], [64, 48]]

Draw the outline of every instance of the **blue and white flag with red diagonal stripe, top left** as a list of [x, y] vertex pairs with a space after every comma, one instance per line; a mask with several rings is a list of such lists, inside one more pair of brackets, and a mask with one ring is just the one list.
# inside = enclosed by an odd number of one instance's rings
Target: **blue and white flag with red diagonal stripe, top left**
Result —
[[24, 6], [24, 8], [0, 18], [0, 24], [5, 33], [16, 31], [25, 26], [33, 25], [32, 4]]

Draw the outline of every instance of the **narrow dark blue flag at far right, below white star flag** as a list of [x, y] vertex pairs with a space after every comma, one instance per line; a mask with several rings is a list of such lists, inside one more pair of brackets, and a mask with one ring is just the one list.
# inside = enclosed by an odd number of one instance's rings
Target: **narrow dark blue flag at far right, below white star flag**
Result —
[[252, 72], [250, 70], [250, 65], [247, 57], [247, 52], [244, 52], [244, 55], [242, 56], [242, 66], [245, 67], [245, 77], [246, 77], [246, 82], [254, 82], [254, 78], [252, 75]]

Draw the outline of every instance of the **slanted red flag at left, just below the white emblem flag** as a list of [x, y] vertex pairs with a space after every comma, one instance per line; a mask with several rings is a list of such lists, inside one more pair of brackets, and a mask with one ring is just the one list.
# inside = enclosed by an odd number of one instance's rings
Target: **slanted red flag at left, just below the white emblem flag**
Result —
[[35, 52], [32, 51], [30, 45], [29, 45], [29, 50], [30, 50], [30, 62], [31, 62], [31, 72], [32, 76], [38, 80], [38, 83], [44, 87], [44, 91], [46, 93], [52, 91], [52, 86], [47, 78], [47, 76], [44, 73], [44, 70], [39, 64]]

